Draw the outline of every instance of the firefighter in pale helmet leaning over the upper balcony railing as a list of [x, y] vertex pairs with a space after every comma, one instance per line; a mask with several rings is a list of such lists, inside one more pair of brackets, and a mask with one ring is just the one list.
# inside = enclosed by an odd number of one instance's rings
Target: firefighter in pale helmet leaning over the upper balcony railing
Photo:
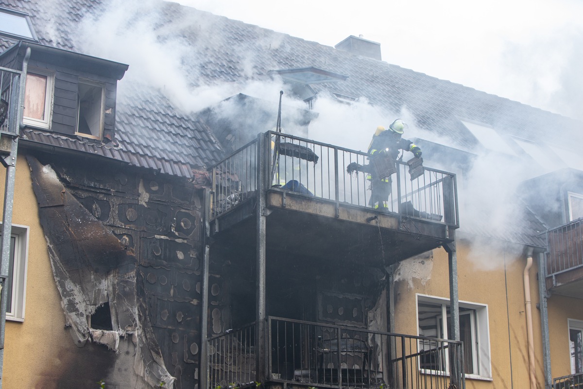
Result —
[[[399, 150], [410, 151], [416, 157], [421, 156], [421, 149], [415, 143], [401, 138], [403, 130], [407, 125], [401, 119], [397, 119], [389, 125], [388, 131], [382, 127], [377, 127], [373, 135], [373, 140], [368, 146], [368, 153], [371, 155], [370, 162], [373, 166], [372, 172], [368, 174], [367, 178], [371, 181], [371, 198], [368, 205], [373, 206], [374, 209], [381, 211], [388, 211], [388, 200], [391, 195], [391, 174], [396, 171], [396, 160], [399, 157]], [[381, 160], [384, 159], [384, 160]], [[391, 169], [387, 173], [375, 171], [376, 166], [381, 166], [382, 163], [387, 162]], [[380, 176], [385, 177], [380, 177]]]

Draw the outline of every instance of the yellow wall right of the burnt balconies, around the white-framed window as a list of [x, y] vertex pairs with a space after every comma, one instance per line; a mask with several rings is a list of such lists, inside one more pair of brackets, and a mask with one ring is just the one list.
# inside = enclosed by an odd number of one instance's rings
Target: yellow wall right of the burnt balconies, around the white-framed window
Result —
[[[490, 357], [492, 380], [466, 380], [466, 388], [526, 388], [529, 383], [529, 360], [523, 271], [526, 265], [524, 248], [494, 240], [470, 246], [469, 240], [458, 240], [459, 300], [487, 304], [489, 315]], [[535, 366], [538, 387], [544, 387], [537, 260], [529, 271]], [[395, 284], [396, 332], [417, 335], [416, 293], [449, 297], [448, 254], [443, 249], [433, 251], [430, 277], [413, 278]], [[423, 272], [419, 272], [423, 274]], [[398, 275], [403, 278], [403, 275]], [[406, 278], [406, 276], [404, 277]], [[580, 299], [552, 296], [549, 305], [552, 375], [570, 374], [568, 365], [567, 318], [583, 320]]]

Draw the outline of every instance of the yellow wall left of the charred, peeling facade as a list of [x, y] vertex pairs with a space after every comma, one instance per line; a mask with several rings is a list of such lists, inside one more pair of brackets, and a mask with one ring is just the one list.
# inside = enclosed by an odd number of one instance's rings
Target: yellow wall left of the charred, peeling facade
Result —
[[[1, 170], [0, 178], [2, 198], [5, 171]], [[6, 322], [2, 383], [5, 388], [56, 388], [54, 378], [69, 364], [64, 350], [73, 342], [65, 330], [61, 298], [52, 276], [47, 242], [38, 222], [30, 170], [23, 156], [17, 160], [14, 198], [12, 223], [30, 227], [26, 306], [22, 323]], [[43, 382], [45, 379], [53, 383]]]

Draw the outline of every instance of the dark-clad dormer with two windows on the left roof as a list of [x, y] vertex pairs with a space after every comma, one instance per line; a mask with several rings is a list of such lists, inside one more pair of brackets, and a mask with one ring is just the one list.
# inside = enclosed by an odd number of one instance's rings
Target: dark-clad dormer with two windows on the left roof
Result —
[[30, 48], [24, 125], [108, 142], [115, 136], [117, 82], [128, 65], [30, 42], [0, 54], [22, 64]]

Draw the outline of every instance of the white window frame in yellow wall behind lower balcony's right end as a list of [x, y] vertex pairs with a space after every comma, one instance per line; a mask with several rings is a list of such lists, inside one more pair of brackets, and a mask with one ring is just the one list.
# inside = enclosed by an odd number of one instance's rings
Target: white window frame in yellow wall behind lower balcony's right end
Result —
[[[447, 314], [447, 307], [450, 305], [449, 299], [438, 296], [422, 295], [416, 293], [416, 316], [417, 316], [417, 335], [419, 334], [419, 303], [430, 303], [441, 305], [441, 314], [437, 315], [438, 322], [437, 330], [440, 331], [442, 327], [444, 338], [448, 338], [447, 323], [444, 323], [443, 318], [449, 316]], [[473, 310], [474, 314], [469, 311], [462, 314], [470, 314], [470, 325], [472, 328], [472, 356], [473, 356], [473, 374], [465, 374], [468, 379], [492, 380], [492, 365], [490, 352], [490, 328], [488, 317], [487, 304], [472, 303], [466, 301], [459, 301], [459, 307]], [[439, 333], [439, 332], [438, 332]], [[447, 352], [447, 351], [446, 351]], [[446, 359], [447, 360], [447, 359]], [[445, 374], [449, 374], [448, 365], [445, 367]], [[443, 374], [442, 371], [419, 369], [420, 372], [427, 374]]]

